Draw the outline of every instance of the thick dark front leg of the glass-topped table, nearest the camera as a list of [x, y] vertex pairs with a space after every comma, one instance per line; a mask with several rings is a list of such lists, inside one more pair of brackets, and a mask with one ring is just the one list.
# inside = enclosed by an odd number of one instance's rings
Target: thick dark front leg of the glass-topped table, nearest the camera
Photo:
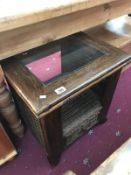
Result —
[[63, 133], [60, 108], [41, 119], [47, 157], [52, 166], [58, 164], [63, 150]]

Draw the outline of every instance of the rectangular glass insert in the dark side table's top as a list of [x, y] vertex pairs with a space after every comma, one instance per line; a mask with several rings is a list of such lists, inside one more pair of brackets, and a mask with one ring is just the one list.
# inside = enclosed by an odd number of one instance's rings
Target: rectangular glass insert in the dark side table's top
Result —
[[90, 42], [71, 36], [46, 48], [40, 47], [38, 51], [33, 51], [33, 56], [27, 54], [22, 63], [48, 85], [105, 54]]

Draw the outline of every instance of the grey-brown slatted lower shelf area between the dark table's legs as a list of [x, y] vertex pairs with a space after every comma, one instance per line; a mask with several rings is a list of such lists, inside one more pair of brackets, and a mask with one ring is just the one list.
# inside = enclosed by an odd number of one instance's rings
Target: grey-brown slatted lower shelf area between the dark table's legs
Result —
[[101, 109], [98, 96], [91, 90], [63, 105], [61, 113], [66, 146], [98, 123]]

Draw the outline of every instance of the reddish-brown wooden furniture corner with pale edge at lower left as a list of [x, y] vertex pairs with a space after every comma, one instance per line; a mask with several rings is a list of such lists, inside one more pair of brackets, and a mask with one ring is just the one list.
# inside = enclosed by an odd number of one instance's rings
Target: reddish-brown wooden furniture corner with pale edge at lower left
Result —
[[17, 151], [0, 123], [0, 166], [16, 155]]

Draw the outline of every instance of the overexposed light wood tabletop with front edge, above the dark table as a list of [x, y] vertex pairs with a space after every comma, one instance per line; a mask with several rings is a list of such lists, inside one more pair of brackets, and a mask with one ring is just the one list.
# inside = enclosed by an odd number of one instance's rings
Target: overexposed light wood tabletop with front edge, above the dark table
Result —
[[1, 0], [0, 31], [38, 23], [112, 1], [119, 0]]

